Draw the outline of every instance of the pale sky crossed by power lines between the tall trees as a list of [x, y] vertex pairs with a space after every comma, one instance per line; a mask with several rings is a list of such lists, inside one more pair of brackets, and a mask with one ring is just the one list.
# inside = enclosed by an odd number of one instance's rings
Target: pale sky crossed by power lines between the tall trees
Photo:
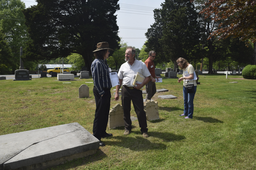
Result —
[[[23, 1], [23, 0], [21, 0]], [[23, 1], [26, 8], [36, 5], [35, 0]], [[142, 48], [147, 38], [145, 33], [153, 25], [155, 8], [161, 8], [164, 0], [119, 0], [120, 10], [116, 12], [119, 37], [128, 46]], [[111, 44], [109, 44], [111, 48]]]

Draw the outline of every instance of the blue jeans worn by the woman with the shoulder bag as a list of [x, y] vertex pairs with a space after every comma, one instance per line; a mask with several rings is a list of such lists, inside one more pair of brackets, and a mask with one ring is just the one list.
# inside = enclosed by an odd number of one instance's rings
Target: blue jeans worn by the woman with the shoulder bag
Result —
[[187, 88], [183, 86], [184, 114], [189, 118], [193, 118], [194, 113], [194, 97], [196, 94], [196, 86], [194, 93], [187, 93]]

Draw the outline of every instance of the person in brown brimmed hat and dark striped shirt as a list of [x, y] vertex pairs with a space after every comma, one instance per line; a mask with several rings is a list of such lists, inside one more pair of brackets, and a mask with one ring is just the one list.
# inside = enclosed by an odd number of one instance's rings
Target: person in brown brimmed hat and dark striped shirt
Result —
[[101, 142], [103, 137], [113, 136], [106, 132], [108, 124], [108, 113], [110, 109], [110, 89], [112, 87], [109, 76], [110, 68], [107, 64], [108, 55], [110, 53], [108, 42], [100, 42], [97, 44], [97, 49], [94, 50], [95, 60], [92, 62], [92, 78], [93, 78], [93, 94], [96, 103], [95, 118], [93, 122], [93, 136], [99, 139], [100, 146], [105, 146]]

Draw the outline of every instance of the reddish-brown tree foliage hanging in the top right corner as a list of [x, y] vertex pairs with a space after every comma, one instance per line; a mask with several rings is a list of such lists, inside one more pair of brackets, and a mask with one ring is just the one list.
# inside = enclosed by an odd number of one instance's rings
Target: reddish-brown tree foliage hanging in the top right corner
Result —
[[[229, 36], [239, 37], [242, 41], [256, 41], [256, 0], [208, 0], [201, 13], [208, 18], [212, 14], [215, 22], [220, 21], [219, 29], [211, 33], [219, 39]], [[209, 38], [211, 38], [209, 37]]]

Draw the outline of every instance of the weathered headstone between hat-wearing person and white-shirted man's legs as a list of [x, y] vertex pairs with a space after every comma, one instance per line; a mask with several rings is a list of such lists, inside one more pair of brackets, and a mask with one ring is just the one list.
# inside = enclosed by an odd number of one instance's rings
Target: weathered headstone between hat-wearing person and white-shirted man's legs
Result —
[[109, 111], [108, 128], [115, 129], [116, 127], [124, 126], [124, 110], [123, 106], [116, 104]]

